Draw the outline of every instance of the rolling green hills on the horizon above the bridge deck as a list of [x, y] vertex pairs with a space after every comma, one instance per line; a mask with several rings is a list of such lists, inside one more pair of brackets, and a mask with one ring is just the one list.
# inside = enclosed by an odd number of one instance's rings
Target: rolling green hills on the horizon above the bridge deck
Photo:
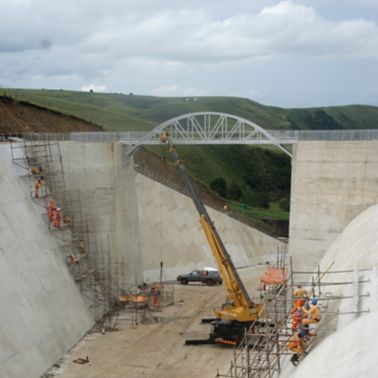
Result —
[[153, 97], [33, 89], [2, 89], [2, 93], [116, 131], [150, 130], [172, 117], [200, 111], [237, 115], [266, 129], [378, 127], [378, 107], [365, 105], [284, 109], [237, 97]]

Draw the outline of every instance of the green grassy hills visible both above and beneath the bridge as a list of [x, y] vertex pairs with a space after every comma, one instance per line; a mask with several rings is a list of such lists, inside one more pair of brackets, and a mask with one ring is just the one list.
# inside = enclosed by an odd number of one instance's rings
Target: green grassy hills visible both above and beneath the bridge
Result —
[[[168, 119], [192, 112], [216, 111], [229, 113], [251, 120], [265, 129], [362, 129], [378, 127], [378, 107], [351, 105], [326, 108], [283, 109], [265, 106], [245, 98], [236, 97], [153, 97], [123, 94], [104, 94], [62, 90], [2, 89], [5, 95], [46, 108], [72, 114], [104, 127], [105, 130], [136, 131], [150, 130]], [[151, 147], [152, 148], [152, 147]], [[159, 151], [159, 148], [152, 148]], [[220, 150], [222, 149], [222, 150]], [[290, 173], [290, 163], [282, 161], [282, 154], [270, 147], [270, 158], [264, 148], [240, 147], [239, 156], [235, 146], [180, 146], [180, 155], [191, 174], [200, 182], [209, 185], [216, 178], [225, 178], [227, 185], [237, 184], [243, 191], [240, 202], [254, 205], [256, 196], [264, 194], [264, 185], [269, 187], [277, 178]], [[252, 151], [250, 151], [252, 150]], [[164, 150], [160, 150], [164, 153]], [[239, 160], [238, 160], [239, 157]], [[244, 161], [250, 163], [244, 164]], [[256, 175], [258, 177], [256, 177]], [[263, 181], [261, 188], [248, 186], [245, 176]], [[286, 177], [285, 176], [285, 177]], [[277, 201], [289, 195], [289, 185], [278, 194], [271, 195], [270, 208], [249, 207], [244, 213], [260, 219], [287, 219]], [[277, 188], [275, 189], [277, 191]], [[238, 203], [230, 203], [235, 210]]]

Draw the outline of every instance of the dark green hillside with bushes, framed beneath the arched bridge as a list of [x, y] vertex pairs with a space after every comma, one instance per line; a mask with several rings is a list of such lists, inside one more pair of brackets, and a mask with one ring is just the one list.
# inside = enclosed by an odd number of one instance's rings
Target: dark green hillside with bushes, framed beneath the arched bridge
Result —
[[[149, 147], [166, 155], [166, 147]], [[229, 201], [269, 209], [271, 204], [288, 205], [290, 158], [280, 150], [252, 146], [177, 147], [189, 172]], [[287, 202], [287, 201], [286, 201]]]

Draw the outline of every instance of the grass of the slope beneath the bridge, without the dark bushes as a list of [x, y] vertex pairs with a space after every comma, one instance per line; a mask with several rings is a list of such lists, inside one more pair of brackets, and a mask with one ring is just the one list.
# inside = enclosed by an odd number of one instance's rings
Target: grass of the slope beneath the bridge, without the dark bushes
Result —
[[[165, 146], [150, 146], [149, 149], [170, 159]], [[280, 211], [276, 205], [281, 198], [289, 197], [290, 159], [278, 149], [180, 145], [177, 150], [190, 174], [206, 186], [209, 187], [217, 178], [224, 178], [228, 189], [232, 184], [237, 184], [242, 191], [238, 202], [255, 208], [253, 211], [243, 210], [242, 213], [260, 219], [287, 220], [287, 212]], [[254, 188], [246, 183], [245, 176], [253, 177], [256, 183]], [[271, 206], [256, 211], [262, 197], [266, 197]], [[238, 210], [237, 202], [233, 209]]]

